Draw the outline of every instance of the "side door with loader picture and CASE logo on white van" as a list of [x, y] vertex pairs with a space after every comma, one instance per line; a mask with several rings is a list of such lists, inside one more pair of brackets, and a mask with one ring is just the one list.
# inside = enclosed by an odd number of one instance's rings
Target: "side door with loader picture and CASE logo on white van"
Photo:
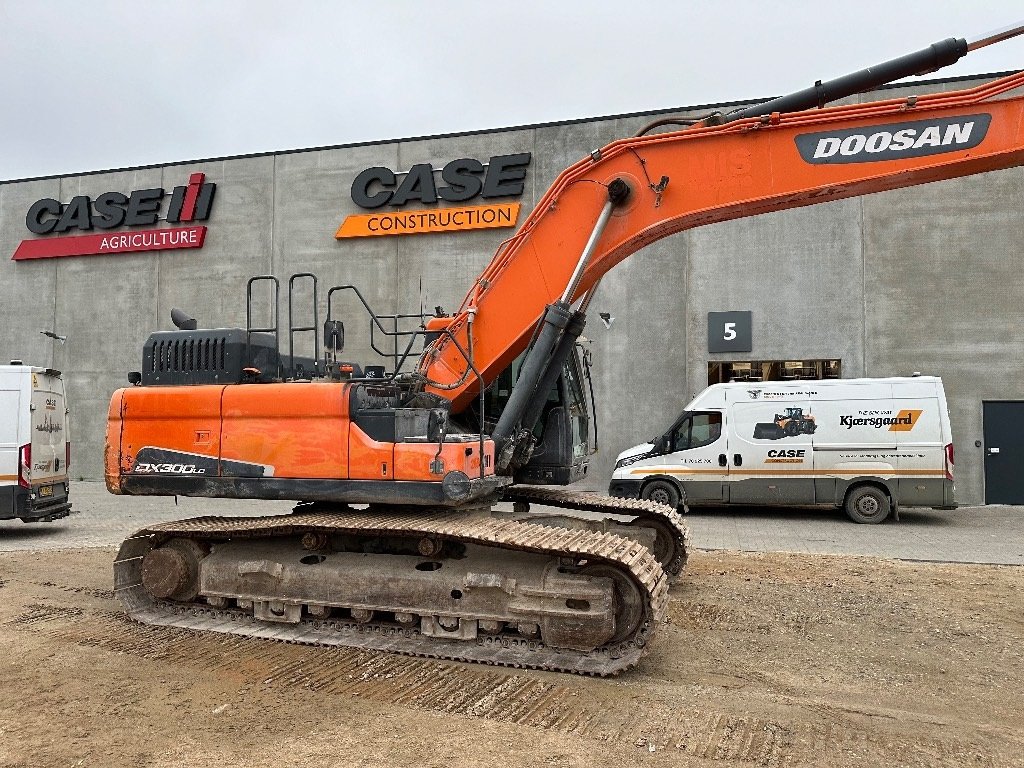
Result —
[[738, 402], [729, 435], [729, 502], [814, 504], [809, 400]]

